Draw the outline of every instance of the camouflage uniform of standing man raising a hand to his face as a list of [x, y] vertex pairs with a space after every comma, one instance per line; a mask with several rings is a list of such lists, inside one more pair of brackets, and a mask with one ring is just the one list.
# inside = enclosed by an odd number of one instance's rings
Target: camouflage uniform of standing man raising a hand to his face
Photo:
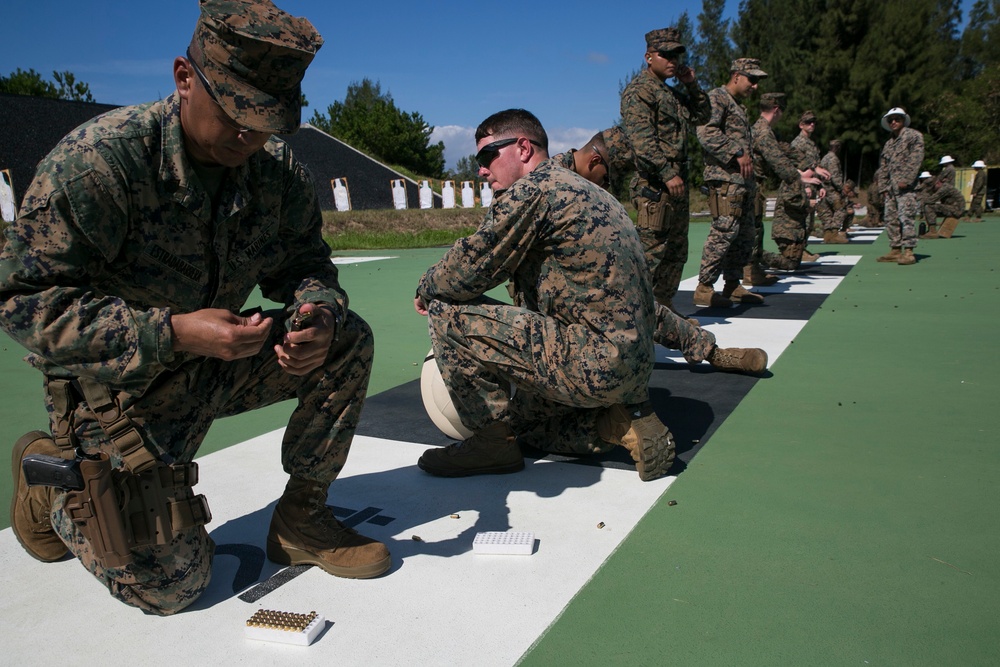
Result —
[[[639, 211], [636, 226], [653, 272], [653, 294], [658, 303], [670, 304], [688, 256], [688, 135], [708, 121], [708, 95], [697, 82], [668, 86], [647, 69], [622, 92], [621, 114], [635, 153], [632, 203]], [[684, 179], [680, 197], [671, 196], [665, 185], [675, 176]], [[658, 198], [647, 196], [652, 193]]]

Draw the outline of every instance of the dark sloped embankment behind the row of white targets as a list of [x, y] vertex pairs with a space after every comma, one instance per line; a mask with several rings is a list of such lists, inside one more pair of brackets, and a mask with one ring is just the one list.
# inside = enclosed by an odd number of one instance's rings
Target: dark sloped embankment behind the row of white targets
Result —
[[[38, 163], [60, 139], [115, 108], [112, 104], [0, 93], [0, 169], [10, 170], [15, 199], [20, 202]], [[323, 210], [336, 209], [331, 181], [345, 177], [355, 209], [392, 208], [389, 182], [398, 178], [406, 183], [409, 207], [420, 205], [416, 183], [311, 125], [281, 138], [312, 174]], [[434, 199], [434, 205], [440, 207], [440, 195]]]

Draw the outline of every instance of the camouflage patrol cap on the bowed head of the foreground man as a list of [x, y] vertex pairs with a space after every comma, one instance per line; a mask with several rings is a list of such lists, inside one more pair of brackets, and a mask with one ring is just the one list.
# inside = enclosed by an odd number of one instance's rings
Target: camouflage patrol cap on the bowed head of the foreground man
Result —
[[302, 115], [302, 77], [323, 38], [270, 0], [199, 0], [188, 59], [241, 127], [289, 134]]

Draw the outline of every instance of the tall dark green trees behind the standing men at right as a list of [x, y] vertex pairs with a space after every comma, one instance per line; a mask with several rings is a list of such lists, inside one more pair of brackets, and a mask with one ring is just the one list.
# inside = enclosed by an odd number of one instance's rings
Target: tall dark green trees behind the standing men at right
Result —
[[758, 94], [786, 95], [778, 136], [791, 140], [812, 110], [813, 139], [843, 142], [849, 178], [871, 179], [880, 120], [897, 106], [924, 134], [925, 168], [943, 155], [1000, 162], [1000, 0], [976, 0], [964, 28], [960, 0], [742, 0], [733, 20], [724, 6], [703, 0], [697, 35], [686, 13], [677, 21], [702, 85], [724, 84], [733, 58], [759, 58]]

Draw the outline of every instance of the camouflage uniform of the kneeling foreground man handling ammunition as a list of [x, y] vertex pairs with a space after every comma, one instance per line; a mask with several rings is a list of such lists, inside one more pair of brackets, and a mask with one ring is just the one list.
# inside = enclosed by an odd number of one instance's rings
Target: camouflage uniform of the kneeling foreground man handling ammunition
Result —
[[[74, 130], [40, 164], [0, 253], [0, 323], [47, 385], [84, 378], [105, 386], [162, 460], [191, 461], [217, 417], [295, 398], [282, 466], [328, 483], [347, 458], [373, 338], [347, 309], [321, 226], [309, 176], [284, 142], [272, 138], [229, 169], [213, 202], [185, 150], [176, 93], [117, 109]], [[226, 362], [173, 350], [172, 315], [238, 312], [258, 286], [288, 307], [327, 304], [339, 315], [324, 365], [303, 377], [279, 366], [280, 311], [253, 357]], [[54, 428], [58, 415], [47, 403]], [[121, 465], [85, 400], [71, 423], [84, 452]], [[203, 527], [104, 569], [64, 499], [51, 514], [56, 532], [115, 597], [168, 614], [208, 585], [213, 543]]]

